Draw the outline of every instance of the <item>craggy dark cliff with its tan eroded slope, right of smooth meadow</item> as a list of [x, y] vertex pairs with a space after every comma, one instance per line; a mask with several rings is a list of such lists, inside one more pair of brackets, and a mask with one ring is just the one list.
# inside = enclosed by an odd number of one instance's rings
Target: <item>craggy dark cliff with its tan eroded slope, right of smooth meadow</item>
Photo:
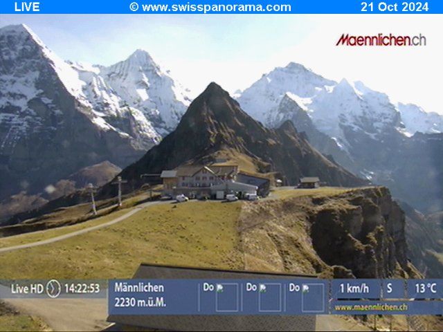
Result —
[[325, 277], [418, 277], [405, 216], [385, 187], [325, 190], [246, 205], [239, 224], [247, 268]]

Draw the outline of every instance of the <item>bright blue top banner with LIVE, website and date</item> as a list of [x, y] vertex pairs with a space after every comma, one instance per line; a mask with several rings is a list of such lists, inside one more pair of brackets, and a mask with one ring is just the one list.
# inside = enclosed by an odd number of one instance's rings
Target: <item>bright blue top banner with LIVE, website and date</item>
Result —
[[442, 14], [443, 1], [120, 0], [0, 1], [1, 14]]

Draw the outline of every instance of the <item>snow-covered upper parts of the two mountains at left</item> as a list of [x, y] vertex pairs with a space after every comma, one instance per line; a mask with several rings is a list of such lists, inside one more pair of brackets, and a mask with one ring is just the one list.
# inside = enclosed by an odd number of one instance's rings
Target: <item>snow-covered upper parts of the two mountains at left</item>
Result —
[[[37, 125], [38, 117], [28, 107], [31, 100], [39, 98], [49, 108], [53, 104], [37, 88], [39, 62], [50, 64], [66, 91], [83, 106], [79, 110], [100, 130], [129, 136], [145, 148], [174, 129], [190, 103], [188, 91], [144, 50], [113, 66], [91, 66], [60, 59], [24, 24], [0, 28], [0, 36], [5, 41], [1, 60], [10, 68], [14, 64], [13, 71], [0, 71], [0, 122], [13, 124], [16, 134]], [[19, 64], [18, 59], [31, 51], [32, 56]], [[4, 111], [11, 108], [15, 111]]]

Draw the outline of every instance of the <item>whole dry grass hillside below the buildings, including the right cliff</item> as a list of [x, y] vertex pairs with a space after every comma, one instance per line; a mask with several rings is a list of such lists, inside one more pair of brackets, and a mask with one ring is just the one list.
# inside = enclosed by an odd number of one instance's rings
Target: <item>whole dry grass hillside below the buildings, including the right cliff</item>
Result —
[[[419, 277], [404, 255], [404, 214], [386, 188], [276, 190], [273, 198], [152, 205], [107, 228], [4, 252], [0, 279], [125, 278], [143, 261], [321, 277]], [[0, 248], [102, 222], [6, 237]], [[437, 317], [427, 324], [443, 329]]]

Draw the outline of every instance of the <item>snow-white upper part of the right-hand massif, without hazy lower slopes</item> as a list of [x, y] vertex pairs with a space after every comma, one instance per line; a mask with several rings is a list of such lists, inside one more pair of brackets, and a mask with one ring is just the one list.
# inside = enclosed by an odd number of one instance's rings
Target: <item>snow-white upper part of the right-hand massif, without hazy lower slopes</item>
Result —
[[343, 147], [349, 145], [343, 133], [345, 127], [374, 139], [386, 128], [396, 128], [405, 136], [417, 131], [443, 131], [443, 116], [437, 113], [426, 113], [415, 105], [394, 104], [388, 95], [362, 82], [327, 80], [293, 62], [262, 75], [236, 98], [251, 116], [275, 127], [282, 120], [278, 105], [284, 95], [308, 113], [318, 130]]

